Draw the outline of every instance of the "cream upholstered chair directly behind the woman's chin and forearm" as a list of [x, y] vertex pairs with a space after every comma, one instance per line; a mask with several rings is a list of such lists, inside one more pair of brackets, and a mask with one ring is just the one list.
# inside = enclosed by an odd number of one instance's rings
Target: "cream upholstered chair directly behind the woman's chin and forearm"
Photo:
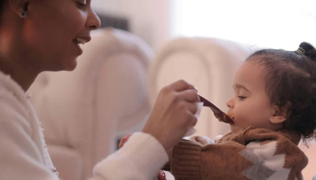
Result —
[[61, 179], [86, 180], [93, 166], [139, 131], [150, 113], [152, 49], [116, 29], [93, 32], [72, 72], [43, 72], [28, 92]]

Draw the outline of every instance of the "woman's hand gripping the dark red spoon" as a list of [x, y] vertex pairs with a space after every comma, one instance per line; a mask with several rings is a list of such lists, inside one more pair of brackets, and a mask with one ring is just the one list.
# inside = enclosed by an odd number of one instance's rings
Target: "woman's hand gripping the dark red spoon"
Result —
[[195, 102], [199, 101], [196, 88], [184, 80], [164, 87], [143, 132], [154, 136], [168, 151], [197, 123]]

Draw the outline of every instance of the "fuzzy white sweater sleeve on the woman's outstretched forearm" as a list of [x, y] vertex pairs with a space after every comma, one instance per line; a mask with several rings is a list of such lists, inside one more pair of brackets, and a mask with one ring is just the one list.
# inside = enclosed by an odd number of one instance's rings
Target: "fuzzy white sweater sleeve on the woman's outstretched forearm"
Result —
[[153, 136], [134, 133], [124, 146], [94, 167], [94, 176], [108, 180], [151, 179], [168, 162], [164, 147]]

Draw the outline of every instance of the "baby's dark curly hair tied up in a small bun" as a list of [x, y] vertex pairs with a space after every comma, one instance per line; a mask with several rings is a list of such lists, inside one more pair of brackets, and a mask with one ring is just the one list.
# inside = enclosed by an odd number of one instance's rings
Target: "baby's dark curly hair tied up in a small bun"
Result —
[[267, 69], [266, 90], [271, 103], [286, 109], [283, 127], [299, 132], [305, 145], [315, 140], [316, 49], [302, 42], [296, 51], [256, 51], [246, 59], [253, 60]]

